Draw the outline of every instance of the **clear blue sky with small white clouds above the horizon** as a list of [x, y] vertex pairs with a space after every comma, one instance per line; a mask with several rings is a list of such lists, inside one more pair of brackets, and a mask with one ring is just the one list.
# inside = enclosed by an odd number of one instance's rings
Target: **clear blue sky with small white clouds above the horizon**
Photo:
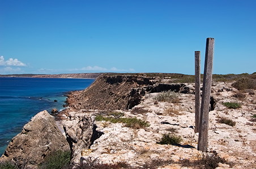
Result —
[[0, 0], [0, 74], [256, 72], [256, 1]]

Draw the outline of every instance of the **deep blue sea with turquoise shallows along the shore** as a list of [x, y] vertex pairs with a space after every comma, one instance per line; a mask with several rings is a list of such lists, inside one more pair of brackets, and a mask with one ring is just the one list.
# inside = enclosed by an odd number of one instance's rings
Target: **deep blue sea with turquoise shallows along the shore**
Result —
[[[0, 156], [25, 123], [42, 110], [64, 109], [65, 94], [83, 90], [94, 79], [1, 78]], [[54, 102], [57, 100], [57, 102]]]

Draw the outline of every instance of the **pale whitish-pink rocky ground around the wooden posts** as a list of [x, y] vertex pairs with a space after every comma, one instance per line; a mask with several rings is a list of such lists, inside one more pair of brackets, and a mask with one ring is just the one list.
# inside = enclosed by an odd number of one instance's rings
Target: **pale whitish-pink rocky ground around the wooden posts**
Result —
[[[202, 167], [202, 164], [197, 166], [200, 159], [216, 155], [225, 159], [225, 162], [218, 164], [218, 168], [255, 168], [256, 125], [252, 118], [256, 114], [255, 90], [241, 94], [231, 83], [212, 85], [216, 104], [209, 113], [208, 154], [205, 154], [197, 150], [198, 133], [194, 132], [194, 86], [186, 84], [186, 87], [190, 92], [180, 93], [175, 101], [156, 101], [158, 93], [151, 93], [145, 94], [141, 103], [131, 110], [114, 111], [114, 114], [120, 113], [123, 117], [148, 121], [149, 127], [130, 128], [123, 123], [94, 121], [99, 114], [109, 115], [100, 110], [81, 109], [68, 113], [62, 124], [72, 140], [70, 143], [75, 152], [72, 163], [94, 160], [109, 164], [126, 163], [135, 168], [197, 168]], [[241, 108], [228, 109], [224, 102], [239, 103]], [[231, 119], [235, 125], [220, 123], [219, 119], [223, 117]], [[94, 133], [99, 137], [91, 140], [92, 143], [88, 143], [89, 138], [83, 139], [87, 135], [84, 135], [86, 132], [83, 129], [85, 121], [94, 124]], [[181, 136], [182, 142], [180, 145], [157, 144], [164, 134]], [[75, 140], [86, 141], [78, 143]]]

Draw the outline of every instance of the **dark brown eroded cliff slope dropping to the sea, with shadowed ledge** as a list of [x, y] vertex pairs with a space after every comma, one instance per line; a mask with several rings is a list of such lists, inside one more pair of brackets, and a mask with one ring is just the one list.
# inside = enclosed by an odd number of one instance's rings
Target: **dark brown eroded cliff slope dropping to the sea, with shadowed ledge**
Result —
[[[125, 110], [142, 101], [145, 94], [161, 91], [190, 92], [185, 84], [160, 84], [156, 77], [138, 75], [101, 75], [86, 90], [71, 92], [70, 110]], [[69, 110], [69, 111], [70, 111]]]

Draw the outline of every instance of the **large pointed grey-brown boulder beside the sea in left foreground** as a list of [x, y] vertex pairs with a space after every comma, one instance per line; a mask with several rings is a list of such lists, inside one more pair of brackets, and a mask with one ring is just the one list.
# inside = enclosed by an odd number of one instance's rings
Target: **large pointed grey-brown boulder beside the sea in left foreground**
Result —
[[54, 117], [44, 110], [11, 140], [0, 161], [14, 161], [19, 167], [37, 168], [49, 153], [68, 149], [69, 144], [56, 126]]

